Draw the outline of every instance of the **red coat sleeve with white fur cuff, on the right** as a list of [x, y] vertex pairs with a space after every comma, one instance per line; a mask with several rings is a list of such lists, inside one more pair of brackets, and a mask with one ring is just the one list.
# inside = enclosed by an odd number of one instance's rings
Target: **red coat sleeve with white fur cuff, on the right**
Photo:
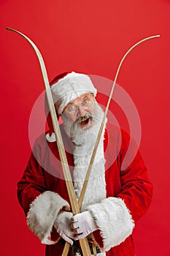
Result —
[[[135, 143], [131, 144], [127, 156], [128, 145], [129, 137], [122, 132], [122, 145], [117, 157], [120, 192], [115, 197], [107, 197], [101, 200], [101, 203], [88, 206], [99, 228], [93, 235], [104, 251], [121, 244], [131, 235], [135, 222], [147, 211], [152, 200], [152, 184], [147, 176], [144, 161], [139, 151], [136, 151]], [[121, 170], [125, 155], [128, 161], [132, 154], [136, 154], [134, 160], [125, 170]]]

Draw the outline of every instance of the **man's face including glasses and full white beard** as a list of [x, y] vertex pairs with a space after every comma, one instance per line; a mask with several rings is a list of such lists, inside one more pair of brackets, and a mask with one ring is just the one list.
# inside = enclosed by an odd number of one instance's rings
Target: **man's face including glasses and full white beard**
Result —
[[63, 127], [74, 145], [93, 144], [101, 125], [104, 112], [93, 97], [93, 94], [83, 94], [77, 97], [63, 110]]

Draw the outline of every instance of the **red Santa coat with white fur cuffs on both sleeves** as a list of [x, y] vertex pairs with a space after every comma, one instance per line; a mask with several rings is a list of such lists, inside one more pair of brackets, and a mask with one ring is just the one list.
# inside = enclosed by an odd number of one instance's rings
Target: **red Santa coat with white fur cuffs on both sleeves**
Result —
[[[61, 134], [70, 171], [73, 173], [74, 145], [62, 125]], [[129, 145], [126, 132], [107, 125], [104, 137], [107, 198], [87, 207], [99, 227], [93, 235], [107, 256], [134, 256], [131, 233], [134, 223], [150, 206], [152, 184], [139, 151], [133, 162], [121, 170]], [[136, 151], [135, 145], [131, 147], [131, 154], [133, 151]], [[28, 166], [18, 182], [18, 200], [27, 216], [28, 227], [42, 244], [47, 244], [46, 256], [61, 255], [63, 244], [53, 223], [61, 208], [67, 211], [72, 209], [56, 142], [48, 142], [45, 135], [36, 139]]]

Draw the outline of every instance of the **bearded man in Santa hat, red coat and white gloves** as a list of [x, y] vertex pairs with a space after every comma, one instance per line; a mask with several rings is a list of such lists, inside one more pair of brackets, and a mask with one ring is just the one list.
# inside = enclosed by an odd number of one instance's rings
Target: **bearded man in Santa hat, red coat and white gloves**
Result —
[[[63, 119], [61, 135], [78, 200], [104, 112], [88, 75], [58, 75], [51, 90], [58, 117]], [[121, 170], [129, 136], [106, 121], [81, 213], [73, 216], [50, 115], [47, 121], [50, 130], [36, 139], [18, 182], [18, 200], [28, 227], [46, 244], [46, 256], [61, 255], [65, 241], [71, 244], [69, 255], [81, 255], [78, 241], [85, 236], [93, 238], [90, 242], [95, 244], [97, 255], [134, 256], [134, 225], [152, 199], [152, 184], [139, 151]], [[90, 248], [95, 254], [93, 246]]]

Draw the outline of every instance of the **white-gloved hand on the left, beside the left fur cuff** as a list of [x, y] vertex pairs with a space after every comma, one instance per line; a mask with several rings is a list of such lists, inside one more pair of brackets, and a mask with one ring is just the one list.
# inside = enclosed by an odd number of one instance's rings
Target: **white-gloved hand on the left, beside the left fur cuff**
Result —
[[73, 244], [71, 238], [74, 238], [74, 234], [70, 228], [70, 219], [72, 218], [73, 214], [69, 211], [60, 211], [58, 213], [57, 218], [54, 222], [55, 230], [59, 233], [59, 235], [69, 244]]

